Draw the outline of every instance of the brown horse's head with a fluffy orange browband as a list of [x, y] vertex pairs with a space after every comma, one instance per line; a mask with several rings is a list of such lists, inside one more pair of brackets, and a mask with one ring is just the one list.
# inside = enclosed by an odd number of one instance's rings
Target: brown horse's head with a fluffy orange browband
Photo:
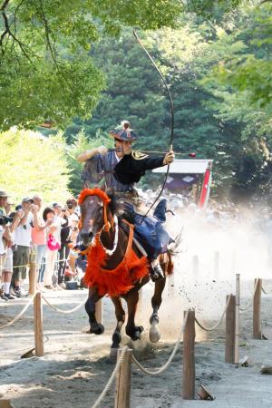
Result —
[[102, 189], [83, 189], [81, 192], [78, 202], [81, 207], [81, 238], [85, 246], [102, 229], [108, 230], [110, 201]]

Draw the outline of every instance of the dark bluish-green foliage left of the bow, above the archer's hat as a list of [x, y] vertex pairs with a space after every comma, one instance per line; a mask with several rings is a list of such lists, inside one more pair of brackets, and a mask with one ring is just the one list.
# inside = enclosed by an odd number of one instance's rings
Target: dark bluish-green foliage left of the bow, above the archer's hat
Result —
[[105, 38], [93, 48], [92, 58], [107, 77], [107, 91], [103, 92], [90, 121], [77, 118], [68, 127], [64, 133], [67, 140], [70, 142], [81, 127], [92, 139], [97, 131], [108, 132], [121, 120], [128, 119], [141, 136], [138, 147], [146, 147], [148, 143], [149, 148], [165, 150], [169, 136], [166, 92], [140, 46], [131, 42], [131, 33], [124, 32], [119, 39]]

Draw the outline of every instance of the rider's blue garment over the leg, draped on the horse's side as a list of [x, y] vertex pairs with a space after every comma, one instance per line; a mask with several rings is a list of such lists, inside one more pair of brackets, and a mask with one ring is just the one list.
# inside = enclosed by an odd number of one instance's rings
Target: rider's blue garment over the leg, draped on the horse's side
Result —
[[134, 216], [135, 238], [139, 240], [148, 256], [155, 259], [166, 252], [170, 241], [168, 232], [163, 228], [163, 223], [166, 220], [166, 199], [160, 201], [151, 217], [137, 214], [130, 204], [126, 204], [126, 207]]

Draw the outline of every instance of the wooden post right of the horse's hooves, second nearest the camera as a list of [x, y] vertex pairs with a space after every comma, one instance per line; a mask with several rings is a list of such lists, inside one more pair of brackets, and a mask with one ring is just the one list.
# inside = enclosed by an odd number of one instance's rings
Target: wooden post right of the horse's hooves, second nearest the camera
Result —
[[[184, 316], [185, 314], [186, 312]], [[189, 310], [183, 335], [182, 398], [184, 400], [195, 399], [195, 336], [195, 311]]]

